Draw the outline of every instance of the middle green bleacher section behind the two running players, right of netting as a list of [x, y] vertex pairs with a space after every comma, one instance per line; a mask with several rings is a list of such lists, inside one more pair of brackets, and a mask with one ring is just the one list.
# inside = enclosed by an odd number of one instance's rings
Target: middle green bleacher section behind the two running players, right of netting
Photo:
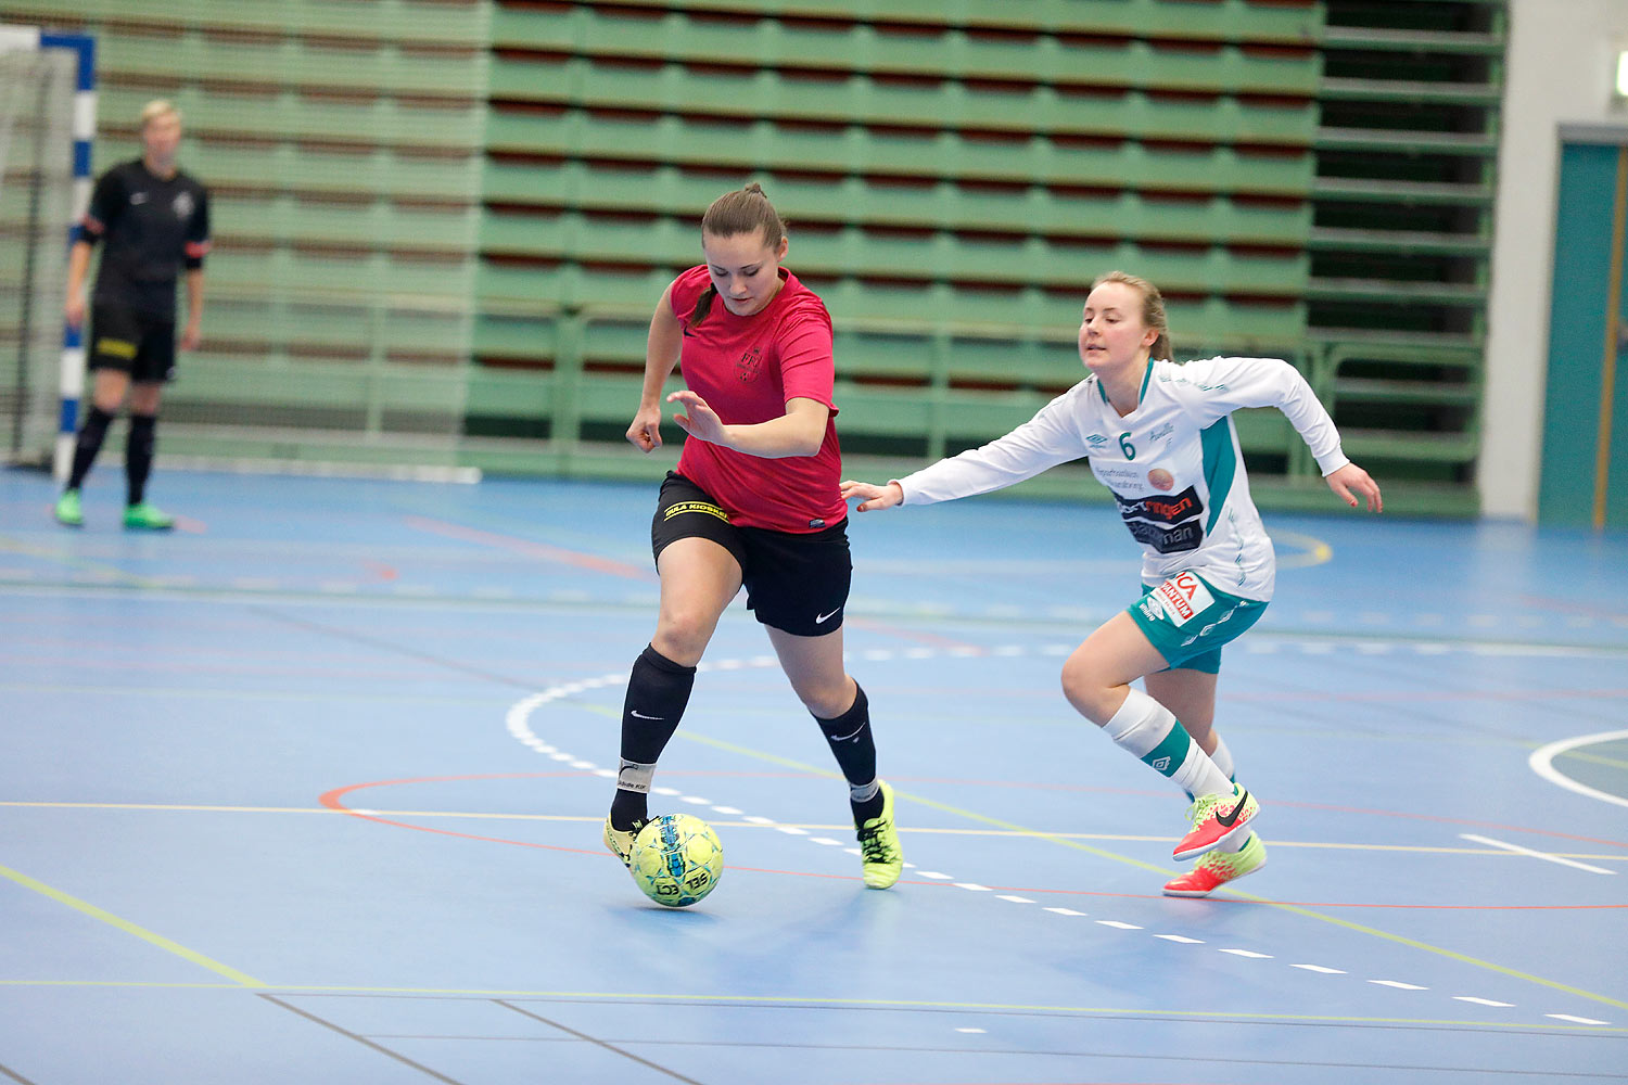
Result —
[[[1195, 353], [1296, 356], [1317, 23], [1241, 2], [498, 5], [477, 296], [558, 307], [484, 319], [475, 382], [534, 366], [580, 460], [620, 439], [650, 309], [747, 177], [834, 314], [855, 464], [982, 442], [1074, 384], [1079, 306], [1114, 267], [1161, 283]], [[1249, 431], [1288, 462], [1283, 433]]]

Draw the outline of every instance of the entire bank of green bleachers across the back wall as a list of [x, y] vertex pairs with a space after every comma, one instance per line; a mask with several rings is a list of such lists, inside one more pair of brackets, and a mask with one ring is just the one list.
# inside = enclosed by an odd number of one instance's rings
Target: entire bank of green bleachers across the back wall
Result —
[[[1503, 0], [21, 0], [215, 194], [166, 451], [637, 475], [650, 311], [760, 181], [837, 329], [853, 470], [1081, 376], [1092, 277], [1177, 356], [1283, 356], [1402, 511], [1473, 512]], [[1268, 506], [1327, 491], [1273, 412]], [[1102, 499], [1083, 470], [1024, 493]], [[1395, 495], [1395, 496], [1392, 496]]]

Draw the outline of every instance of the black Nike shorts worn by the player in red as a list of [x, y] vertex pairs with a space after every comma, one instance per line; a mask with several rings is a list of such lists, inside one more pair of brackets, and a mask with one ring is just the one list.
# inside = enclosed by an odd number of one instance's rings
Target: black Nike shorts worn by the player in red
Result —
[[741, 566], [746, 605], [757, 620], [793, 636], [824, 636], [842, 628], [853, 560], [848, 521], [809, 532], [736, 527], [694, 481], [667, 472], [650, 525], [650, 548], [661, 551], [681, 538], [710, 538]]

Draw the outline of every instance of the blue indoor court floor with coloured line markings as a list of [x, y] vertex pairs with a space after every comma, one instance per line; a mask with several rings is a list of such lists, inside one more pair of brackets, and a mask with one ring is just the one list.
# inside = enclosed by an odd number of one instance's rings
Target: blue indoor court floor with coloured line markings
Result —
[[654, 485], [161, 468], [168, 535], [122, 485], [75, 532], [0, 473], [0, 1082], [1628, 1080], [1621, 535], [1267, 514], [1218, 727], [1271, 859], [1172, 900], [1185, 797], [1058, 688], [1117, 514], [855, 517], [910, 867], [860, 882], [737, 602], [653, 804], [726, 872], [671, 911], [599, 843]]

